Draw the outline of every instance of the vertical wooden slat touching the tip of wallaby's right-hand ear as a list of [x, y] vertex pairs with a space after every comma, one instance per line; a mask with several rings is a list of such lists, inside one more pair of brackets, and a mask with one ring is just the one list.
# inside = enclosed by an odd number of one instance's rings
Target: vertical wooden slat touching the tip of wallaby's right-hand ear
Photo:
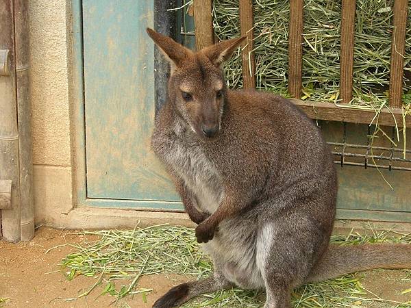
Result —
[[242, 84], [243, 88], [256, 86], [256, 61], [253, 50], [253, 1], [240, 0], [240, 27], [241, 35], [247, 36], [242, 42]]

